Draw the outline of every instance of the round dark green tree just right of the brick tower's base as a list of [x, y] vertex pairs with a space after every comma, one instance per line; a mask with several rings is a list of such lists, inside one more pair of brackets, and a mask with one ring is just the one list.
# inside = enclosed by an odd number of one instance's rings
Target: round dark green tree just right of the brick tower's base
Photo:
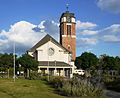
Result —
[[84, 52], [81, 56], [77, 57], [75, 60], [75, 65], [77, 68], [82, 69], [95, 69], [98, 64], [98, 58], [95, 54], [91, 52]]

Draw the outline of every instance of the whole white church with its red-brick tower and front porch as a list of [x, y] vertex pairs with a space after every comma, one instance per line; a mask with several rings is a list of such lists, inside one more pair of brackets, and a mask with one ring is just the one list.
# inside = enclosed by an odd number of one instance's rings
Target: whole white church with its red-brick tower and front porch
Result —
[[60, 17], [60, 42], [47, 34], [28, 54], [39, 62], [38, 72], [50, 76], [73, 77], [76, 66], [76, 22], [74, 13]]

